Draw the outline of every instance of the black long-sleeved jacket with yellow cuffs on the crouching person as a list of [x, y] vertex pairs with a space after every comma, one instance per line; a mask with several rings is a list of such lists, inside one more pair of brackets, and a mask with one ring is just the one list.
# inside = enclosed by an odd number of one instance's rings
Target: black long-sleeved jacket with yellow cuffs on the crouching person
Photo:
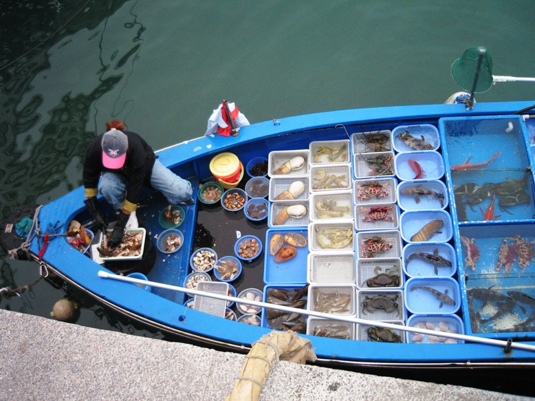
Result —
[[156, 160], [153, 149], [135, 132], [123, 131], [128, 137], [127, 160], [122, 169], [106, 169], [102, 165], [103, 133], [89, 142], [85, 151], [83, 180], [86, 197], [96, 196], [100, 174], [111, 171], [127, 179], [128, 191], [123, 208], [133, 211], [137, 207], [143, 186], [151, 186], [151, 175]]

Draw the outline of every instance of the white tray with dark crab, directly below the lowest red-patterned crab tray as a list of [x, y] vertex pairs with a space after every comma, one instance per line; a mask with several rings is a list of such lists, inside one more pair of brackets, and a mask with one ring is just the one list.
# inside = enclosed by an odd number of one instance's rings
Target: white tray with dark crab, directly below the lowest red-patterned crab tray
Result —
[[[400, 258], [358, 259], [357, 288], [401, 289], [403, 287], [403, 270]], [[371, 284], [371, 286], [370, 286]]]

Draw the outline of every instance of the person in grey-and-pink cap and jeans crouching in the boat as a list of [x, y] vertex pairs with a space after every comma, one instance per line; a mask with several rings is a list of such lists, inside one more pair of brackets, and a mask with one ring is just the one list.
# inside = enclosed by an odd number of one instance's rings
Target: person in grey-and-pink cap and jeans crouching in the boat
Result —
[[[124, 123], [113, 120], [107, 132], [92, 140], [85, 151], [83, 180], [87, 208], [102, 230], [106, 224], [96, 199], [100, 192], [118, 210], [108, 246], [118, 246], [124, 228], [137, 228], [135, 210], [144, 185], [160, 191], [170, 204], [194, 204], [190, 182], [167, 169], [153, 149], [135, 132], [124, 131]], [[101, 177], [102, 176], [102, 177]], [[98, 180], [100, 179], [100, 184]]]

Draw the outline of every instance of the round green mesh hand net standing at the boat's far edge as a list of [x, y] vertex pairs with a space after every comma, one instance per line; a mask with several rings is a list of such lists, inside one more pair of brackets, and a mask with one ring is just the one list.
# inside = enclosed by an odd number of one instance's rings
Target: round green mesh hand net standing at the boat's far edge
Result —
[[486, 92], [492, 86], [492, 58], [485, 47], [470, 47], [452, 64], [451, 76], [465, 91]]

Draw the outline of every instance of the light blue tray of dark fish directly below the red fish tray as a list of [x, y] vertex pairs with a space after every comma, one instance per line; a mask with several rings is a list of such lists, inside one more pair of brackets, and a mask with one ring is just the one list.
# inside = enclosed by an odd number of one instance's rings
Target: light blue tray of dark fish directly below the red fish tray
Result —
[[403, 210], [438, 210], [448, 206], [448, 190], [444, 182], [402, 181], [397, 186], [397, 203]]

